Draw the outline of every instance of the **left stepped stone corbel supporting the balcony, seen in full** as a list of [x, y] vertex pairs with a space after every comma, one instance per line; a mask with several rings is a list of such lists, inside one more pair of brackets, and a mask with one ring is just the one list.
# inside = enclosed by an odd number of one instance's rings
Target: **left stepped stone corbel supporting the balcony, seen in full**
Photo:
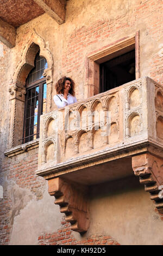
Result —
[[90, 223], [87, 187], [54, 178], [48, 180], [48, 192], [55, 197], [54, 203], [66, 215], [65, 220], [71, 223], [71, 229], [79, 233], [87, 231]]

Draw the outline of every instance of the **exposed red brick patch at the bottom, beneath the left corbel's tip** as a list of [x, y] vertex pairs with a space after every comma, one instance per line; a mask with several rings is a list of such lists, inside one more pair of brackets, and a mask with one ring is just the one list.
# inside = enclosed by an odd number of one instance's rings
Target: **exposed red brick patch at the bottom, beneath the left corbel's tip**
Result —
[[52, 234], [43, 233], [38, 237], [39, 245], [120, 245], [111, 236], [91, 235], [87, 239], [78, 241], [74, 239], [70, 224], [64, 219], [61, 222], [61, 228]]

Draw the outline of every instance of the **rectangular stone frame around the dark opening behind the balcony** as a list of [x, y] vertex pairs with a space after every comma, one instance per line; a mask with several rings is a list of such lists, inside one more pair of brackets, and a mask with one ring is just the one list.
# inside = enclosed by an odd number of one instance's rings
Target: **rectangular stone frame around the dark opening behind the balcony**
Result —
[[140, 78], [139, 31], [87, 54], [85, 60], [85, 99], [100, 93], [99, 64], [133, 49], [135, 49], [135, 77], [137, 80]]

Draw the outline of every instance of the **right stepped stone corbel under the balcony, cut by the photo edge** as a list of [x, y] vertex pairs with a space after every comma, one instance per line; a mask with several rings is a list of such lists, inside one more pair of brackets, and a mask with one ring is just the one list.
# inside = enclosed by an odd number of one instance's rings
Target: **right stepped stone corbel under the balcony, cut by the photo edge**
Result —
[[151, 194], [156, 209], [163, 214], [163, 160], [148, 153], [137, 155], [132, 157], [132, 167], [140, 183], [145, 185], [145, 191]]

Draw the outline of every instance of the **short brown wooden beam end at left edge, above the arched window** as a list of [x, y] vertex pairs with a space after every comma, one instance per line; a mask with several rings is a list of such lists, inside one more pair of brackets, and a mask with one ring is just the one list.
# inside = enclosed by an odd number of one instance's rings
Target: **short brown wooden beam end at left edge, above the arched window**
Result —
[[16, 28], [0, 19], [0, 41], [8, 47], [15, 46]]

